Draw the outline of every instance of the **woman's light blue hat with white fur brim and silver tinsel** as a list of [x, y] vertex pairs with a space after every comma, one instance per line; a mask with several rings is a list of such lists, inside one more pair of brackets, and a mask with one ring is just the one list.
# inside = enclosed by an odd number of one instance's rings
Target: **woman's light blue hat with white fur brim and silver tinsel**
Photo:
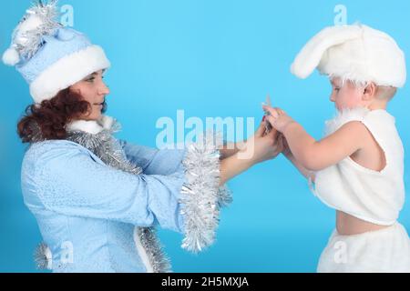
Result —
[[110, 66], [104, 50], [86, 35], [56, 22], [56, 1], [41, 1], [27, 10], [15, 27], [5, 65], [15, 65], [30, 86], [37, 104], [76, 84], [87, 75]]

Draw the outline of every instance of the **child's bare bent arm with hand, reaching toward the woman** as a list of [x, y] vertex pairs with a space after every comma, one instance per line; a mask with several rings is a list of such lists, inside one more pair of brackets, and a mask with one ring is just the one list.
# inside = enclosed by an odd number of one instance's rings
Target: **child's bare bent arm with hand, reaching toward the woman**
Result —
[[310, 171], [322, 170], [352, 156], [364, 147], [364, 136], [369, 135], [361, 122], [353, 121], [343, 125], [333, 135], [316, 141], [282, 110], [279, 113], [269, 107], [269, 111], [272, 114], [269, 121], [285, 136], [295, 160]]

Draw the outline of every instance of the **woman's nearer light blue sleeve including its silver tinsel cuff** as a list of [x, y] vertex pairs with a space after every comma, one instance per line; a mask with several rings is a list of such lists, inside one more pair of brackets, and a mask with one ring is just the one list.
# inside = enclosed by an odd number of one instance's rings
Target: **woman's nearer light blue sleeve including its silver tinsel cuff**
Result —
[[[151, 159], [145, 156], [149, 160], [146, 169], [154, 161], [172, 164], [180, 152], [168, 151], [160, 158], [158, 152]], [[163, 175], [146, 172], [136, 176], [97, 163], [75, 144], [55, 148], [38, 159], [41, 166], [36, 167], [36, 176], [43, 185], [39, 196], [46, 208], [68, 216], [135, 226], [158, 223], [184, 233], [182, 246], [198, 252], [213, 243], [220, 206], [231, 202], [230, 193], [219, 187], [219, 157], [212, 143], [193, 144], [183, 151], [174, 169], [169, 167]]]

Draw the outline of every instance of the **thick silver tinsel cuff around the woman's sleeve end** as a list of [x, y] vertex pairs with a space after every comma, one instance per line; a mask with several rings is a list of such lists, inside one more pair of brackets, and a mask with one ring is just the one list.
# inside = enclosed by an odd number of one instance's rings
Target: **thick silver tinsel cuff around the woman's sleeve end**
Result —
[[185, 217], [182, 247], [198, 253], [215, 240], [220, 206], [231, 203], [227, 187], [220, 188], [220, 135], [208, 132], [187, 146], [182, 162], [187, 183], [182, 186], [180, 203]]

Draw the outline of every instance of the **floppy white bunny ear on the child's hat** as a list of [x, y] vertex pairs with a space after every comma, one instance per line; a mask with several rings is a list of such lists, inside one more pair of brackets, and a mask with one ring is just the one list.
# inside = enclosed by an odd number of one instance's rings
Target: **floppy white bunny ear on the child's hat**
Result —
[[302, 48], [291, 66], [291, 72], [302, 79], [311, 75], [323, 54], [334, 45], [361, 37], [360, 25], [338, 25], [324, 28]]

